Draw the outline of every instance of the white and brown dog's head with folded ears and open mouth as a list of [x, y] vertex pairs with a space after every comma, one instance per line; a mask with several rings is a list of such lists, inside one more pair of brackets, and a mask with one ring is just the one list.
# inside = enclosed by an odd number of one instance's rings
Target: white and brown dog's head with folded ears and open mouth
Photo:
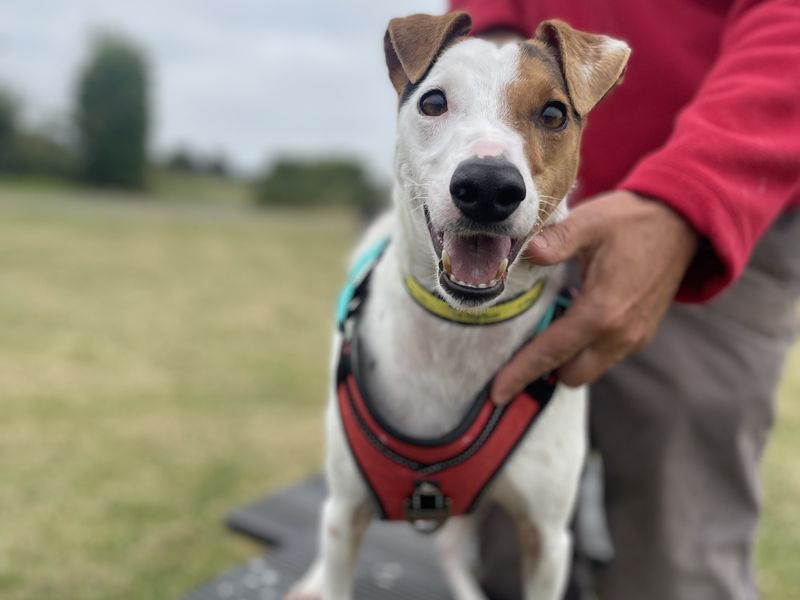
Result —
[[504, 45], [468, 38], [470, 26], [465, 13], [393, 19], [384, 47], [400, 99], [404, 225], [444, 298], [480, 310], [557, 217], [586, 115], [620, 81], [630, 49], [562, 21]]

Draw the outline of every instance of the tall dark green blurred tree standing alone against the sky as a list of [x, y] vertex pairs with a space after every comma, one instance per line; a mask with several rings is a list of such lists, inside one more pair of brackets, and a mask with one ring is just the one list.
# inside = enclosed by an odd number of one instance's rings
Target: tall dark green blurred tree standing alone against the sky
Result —
[[139, 188], [147, 161], [148, 67], [118, 35], [94, 44], [78, 85], [83, 177], [97, 185]]

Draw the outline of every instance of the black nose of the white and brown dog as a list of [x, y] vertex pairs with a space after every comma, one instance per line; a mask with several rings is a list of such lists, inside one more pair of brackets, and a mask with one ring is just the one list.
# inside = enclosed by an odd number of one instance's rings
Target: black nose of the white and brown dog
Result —
[[453, 173], [450, 195], [466, 217], [494, 223], [507, 218], [525, 199], [525, 181], [504, 158], [469, 158]]

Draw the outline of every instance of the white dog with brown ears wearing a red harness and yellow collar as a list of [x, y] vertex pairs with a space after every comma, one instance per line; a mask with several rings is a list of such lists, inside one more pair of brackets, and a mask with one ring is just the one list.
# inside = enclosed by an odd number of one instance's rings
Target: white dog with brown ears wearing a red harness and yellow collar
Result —
[[491, 502], [518, 523], [524, 597], [565, 587], [586, 391], [549, 375], [497, 408], [488, 382], [558, 306], [563, 267], [520, 255], [566, 215], [587, 114], [630, 49], [558, 20], [504, 44], [470, 28], [465, 13], [412, 15], [385, 35], [393, 210], [365, 235], [340, 307], [320, 554], [289, 600], [351, 598], [376, 516], [443, 525], [453, 595], [483, 598], [464, 549], [470, 513]]

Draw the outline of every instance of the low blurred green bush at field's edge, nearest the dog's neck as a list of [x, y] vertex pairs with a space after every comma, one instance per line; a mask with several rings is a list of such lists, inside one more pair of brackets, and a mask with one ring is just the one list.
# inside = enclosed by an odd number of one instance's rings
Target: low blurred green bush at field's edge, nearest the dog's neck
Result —
[[256, 182], [256, 199], [263, 206], [353, 206], [372, 216], [384, 196], [360, 163], [346, 159], [282, 159]]

